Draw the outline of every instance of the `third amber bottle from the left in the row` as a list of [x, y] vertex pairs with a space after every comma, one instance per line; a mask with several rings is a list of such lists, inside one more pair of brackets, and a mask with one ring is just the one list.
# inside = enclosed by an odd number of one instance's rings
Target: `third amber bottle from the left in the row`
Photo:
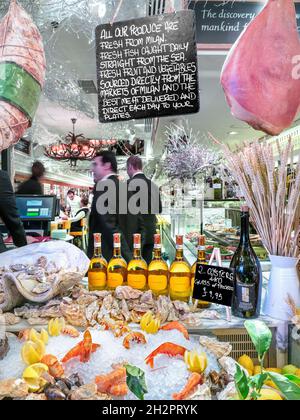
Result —
[[141, 235], [133, 235], [133, 259], [128, 264], [128, 286], [134, 289], [146, 290], [148, 265], [141, 255]]

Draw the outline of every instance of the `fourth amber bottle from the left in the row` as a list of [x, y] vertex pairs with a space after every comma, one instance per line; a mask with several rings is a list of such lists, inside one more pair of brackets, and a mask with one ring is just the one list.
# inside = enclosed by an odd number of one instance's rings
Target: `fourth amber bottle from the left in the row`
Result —
[[148, 268], [148, 284], [152, 292], [158, 295], [169, 293], [169, 268], [161, 257], [161, 236], [154, 235], [154, 256]]

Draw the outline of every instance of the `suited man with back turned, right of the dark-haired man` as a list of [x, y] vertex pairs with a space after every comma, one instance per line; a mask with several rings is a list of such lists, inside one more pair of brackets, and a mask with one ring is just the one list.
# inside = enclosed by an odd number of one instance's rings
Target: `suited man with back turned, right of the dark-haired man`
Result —
[[[127, 229], [131, 231], [137, 229], [137, 232], [132, 233], [142, 234], [142, 255], [149, 264], [153, 255], [156, 215], [162, 212], [159, 188], [143, 173], [143, 162], [139, 156], [131, 156], [127, 160], [127, 173], [130, 178], [128, 181], [129, 216]], [[134, 198], [135, 195], [136, 199]], [[130, 208], [130, 201], [132, 201], [131, 204], [136, 204], [140, 208], [138, 215], [136, 215], [136, 211]], [[142, 217], [142, 224], [139, 217]]]

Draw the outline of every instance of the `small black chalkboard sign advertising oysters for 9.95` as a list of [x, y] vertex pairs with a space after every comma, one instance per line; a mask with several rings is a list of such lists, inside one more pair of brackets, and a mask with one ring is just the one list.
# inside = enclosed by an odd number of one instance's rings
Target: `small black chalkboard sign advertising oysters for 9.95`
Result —
[[231, 307], [234, 276], [230, 268], [197, 264], [193, 298]]

